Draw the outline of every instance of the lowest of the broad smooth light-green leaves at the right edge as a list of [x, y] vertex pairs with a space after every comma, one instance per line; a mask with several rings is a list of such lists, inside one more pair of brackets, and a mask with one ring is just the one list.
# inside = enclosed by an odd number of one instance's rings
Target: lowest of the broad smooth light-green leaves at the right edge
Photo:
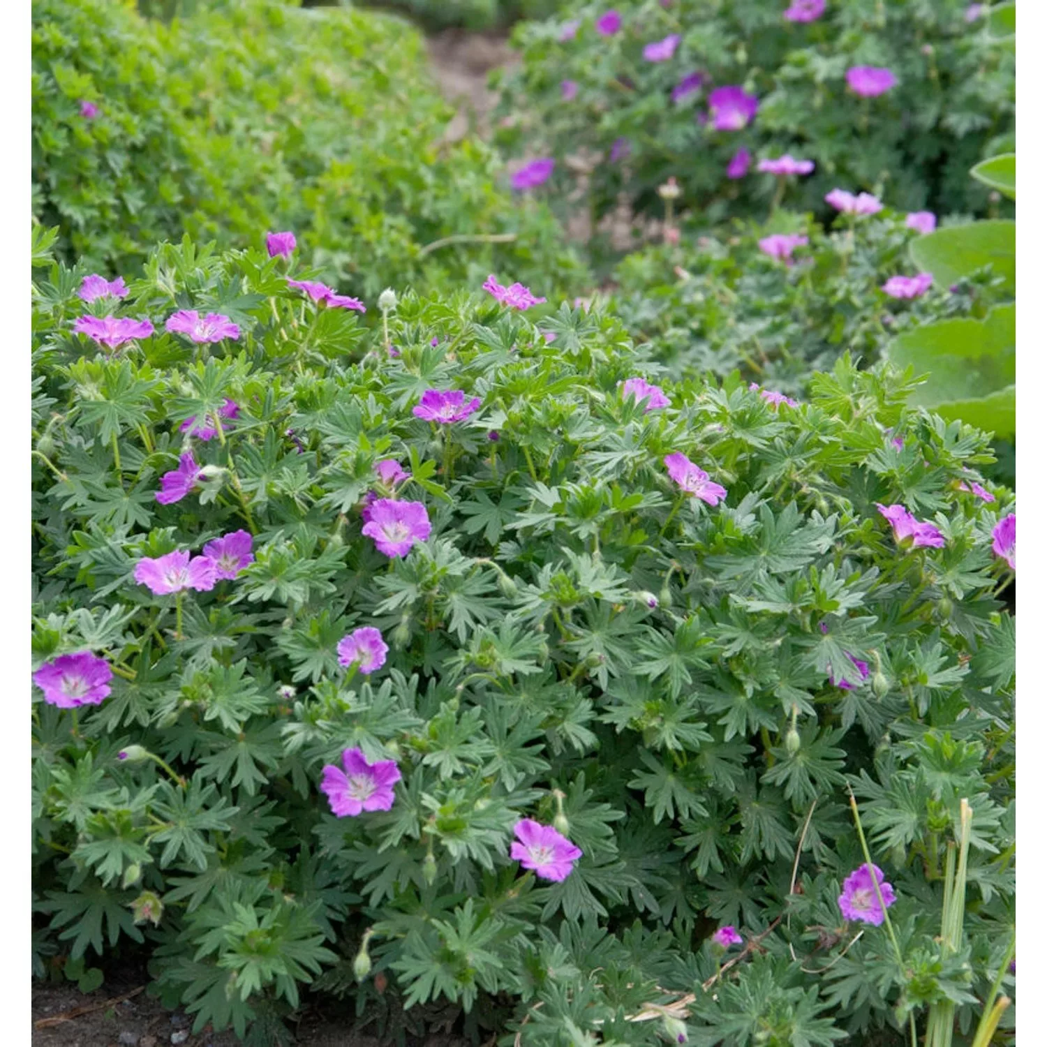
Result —
[[984, 320], [941, 320], [898, 335], [888, 346], [888, 359], [929, 376], [911, 394], [910, 403], [1000, 437], [1011, 436], [1015, 322], [1015, 306], [998, 306]]

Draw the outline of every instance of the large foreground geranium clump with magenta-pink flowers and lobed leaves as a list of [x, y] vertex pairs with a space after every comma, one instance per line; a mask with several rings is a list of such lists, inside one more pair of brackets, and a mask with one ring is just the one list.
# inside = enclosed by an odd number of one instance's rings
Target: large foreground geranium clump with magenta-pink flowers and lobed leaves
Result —
[[514, 272], [369, 328], [261, 233], [47, 250], [38, 971], [137, 946], [266, 1044], [307, 989], [542, 1047], [915, 1045], [1009, 992], [983, 433], [849, 356], [674, 380]]

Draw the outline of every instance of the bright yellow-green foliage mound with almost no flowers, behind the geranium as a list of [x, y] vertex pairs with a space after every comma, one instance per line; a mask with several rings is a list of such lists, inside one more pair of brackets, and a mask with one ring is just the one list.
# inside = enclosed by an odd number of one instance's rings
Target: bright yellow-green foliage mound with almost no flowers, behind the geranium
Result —
[[304, 258], [367, 298], [502, 270], [584, 279], [494, 154], [447, 138], [452, 111], [399, 20], [282, 0], [170, 24], [124, 0], [32, 9], [34, 215], [67, 262], [120, 273], [186, 231], [245, 247], [293, 229]]

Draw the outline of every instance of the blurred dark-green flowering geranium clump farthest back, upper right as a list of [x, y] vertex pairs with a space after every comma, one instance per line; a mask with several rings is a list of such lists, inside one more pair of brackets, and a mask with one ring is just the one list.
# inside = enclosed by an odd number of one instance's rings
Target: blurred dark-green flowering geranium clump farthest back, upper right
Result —
[[967, 170], [1013, 141], [1013, 48], [994, 24], [953, 0], [564, 8], [515, 30], [502, 142], [556, 161], [535, 192], [558, 203], [583, 172], [597, 216], [623, 195], [660, 210], [670, 175], [711, 223], [783, 198], [824, 214], [839, 185], [984, 211]]

